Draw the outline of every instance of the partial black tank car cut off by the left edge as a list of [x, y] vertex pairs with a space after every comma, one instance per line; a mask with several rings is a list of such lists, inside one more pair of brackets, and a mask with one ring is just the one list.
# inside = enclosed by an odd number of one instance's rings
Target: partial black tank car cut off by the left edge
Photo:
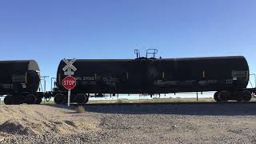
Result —
[[38, 93], [40, 70], [34, 60], [0, 62], [0, 95], [10, 104], [39, 104], [42, 93]]

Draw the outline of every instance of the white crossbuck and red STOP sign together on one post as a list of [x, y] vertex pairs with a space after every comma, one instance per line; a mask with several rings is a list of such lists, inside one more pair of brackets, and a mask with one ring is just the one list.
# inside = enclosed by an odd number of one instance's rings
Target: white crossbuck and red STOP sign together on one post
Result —
[[74, 71], [77, 70], [77, 68], [73, 66], [73, 63], [76, 61], [76, 59], [73, 58], [72, 60], [69, 61], [66, 58], [64, 58], [62, 61], [66, 63], [66, 66], [63, 67], [62, 70], [64, 71], [64, 75], [67, 75], [67, 77], [63, 79], [62, 85], [68, 90], [67, 105], [70, 106], [70, 94], [71, 94], [70, 90], [73, 89], [74, 86], [76, 86], [75, 78], [71, 77], [71, 75], [74, 75]]

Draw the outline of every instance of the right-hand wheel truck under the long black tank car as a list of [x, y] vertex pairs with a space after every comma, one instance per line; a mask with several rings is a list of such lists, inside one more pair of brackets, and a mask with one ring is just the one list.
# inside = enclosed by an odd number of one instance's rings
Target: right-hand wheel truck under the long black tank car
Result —
[[255, 97], [255, 93], [255, 88], [244, 90], [221, 90], [214, 94], [214, 100], [216, 102], [227, 102], [229, 100], [250, 102], [250, 99]]

